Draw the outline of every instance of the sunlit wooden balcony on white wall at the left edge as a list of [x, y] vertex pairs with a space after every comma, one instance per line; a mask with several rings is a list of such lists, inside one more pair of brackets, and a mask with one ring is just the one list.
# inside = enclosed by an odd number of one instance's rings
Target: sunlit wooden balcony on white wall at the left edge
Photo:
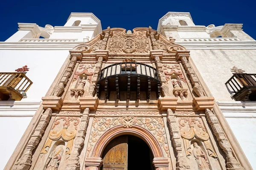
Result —
[[32, 81], [25, 76], [26, 73], [0, 73], [0, 100], [20, 101], [22, 92], [26, 92]]

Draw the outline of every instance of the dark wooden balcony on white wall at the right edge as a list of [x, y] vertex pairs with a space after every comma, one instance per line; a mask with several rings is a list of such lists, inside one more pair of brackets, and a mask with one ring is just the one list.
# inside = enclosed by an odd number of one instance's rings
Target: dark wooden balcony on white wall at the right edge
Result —
[[256, 74], [234, 74], [225, 85], [233, 90], [237, 101], [256, 101]]

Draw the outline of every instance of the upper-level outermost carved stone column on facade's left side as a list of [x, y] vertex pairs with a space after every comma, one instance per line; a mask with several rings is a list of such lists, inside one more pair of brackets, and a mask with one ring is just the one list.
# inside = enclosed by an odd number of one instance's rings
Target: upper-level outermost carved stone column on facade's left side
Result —
[[69, 80], [69, 77], [71, 76], [72, 71], [76, 65], [76, 61], [77, 58], [75, 56], [70, 57], [70, 63], [64, 71], [64, 74], [62, 75], [60, 82], [58, 83], [58, 85], [55, 86], [52, 96], [58, 97], [64, 91], [65, 85], [67, 84], [67, 81]]

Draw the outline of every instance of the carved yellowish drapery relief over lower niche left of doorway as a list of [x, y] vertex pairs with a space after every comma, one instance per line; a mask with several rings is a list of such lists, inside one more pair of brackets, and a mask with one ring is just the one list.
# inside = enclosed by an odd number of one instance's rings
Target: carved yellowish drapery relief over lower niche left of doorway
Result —
[[[80, 118], [78, 117], [56, 117], [51, 131], [49, 132], [47, 142], [44, 144], [40, 155], [43, 156], [44, 154], [48, 153], [52, 146], [52, 141], [63, 140], [64, 142], [67, 142], [65, 154], [68, 158], [70, 156], [73, 140], [75, 139], [79, 122]], [[71, 123], [73, 124], [70, 127]]]

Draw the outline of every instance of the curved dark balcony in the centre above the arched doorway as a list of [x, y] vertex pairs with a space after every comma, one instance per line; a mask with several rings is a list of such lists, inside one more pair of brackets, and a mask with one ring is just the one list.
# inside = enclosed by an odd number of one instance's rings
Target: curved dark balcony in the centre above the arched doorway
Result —
[[99, 99], [147, 100], [160, 96], [157, 70], [139, 62], [121, 62], [101, 70], [97, 82]]

